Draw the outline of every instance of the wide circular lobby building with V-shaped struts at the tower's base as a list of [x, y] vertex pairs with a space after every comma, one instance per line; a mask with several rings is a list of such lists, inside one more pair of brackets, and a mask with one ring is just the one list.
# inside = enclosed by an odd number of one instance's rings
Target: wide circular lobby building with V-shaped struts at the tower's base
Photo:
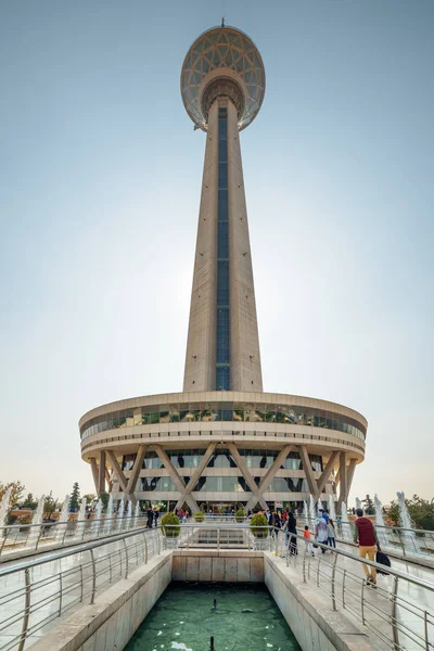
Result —
[[334, 403], [229, 391], [119, 400], [79, 427], [99, 495], [195, 512], [346, 501], [367, 422]]

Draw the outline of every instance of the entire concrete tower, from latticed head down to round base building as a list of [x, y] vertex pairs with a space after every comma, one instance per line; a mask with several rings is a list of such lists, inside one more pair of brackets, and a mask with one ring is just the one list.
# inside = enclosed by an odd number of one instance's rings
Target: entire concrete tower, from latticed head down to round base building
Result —
[[181, 94], [206, 135], [182, 393], [111, 403], [79, 422], [95, 490], [174, 510], [347, 501], [367, 421], [342, 405], [263, 392], [240, 132], [265, 69], [233, 27], [187, 53]]

